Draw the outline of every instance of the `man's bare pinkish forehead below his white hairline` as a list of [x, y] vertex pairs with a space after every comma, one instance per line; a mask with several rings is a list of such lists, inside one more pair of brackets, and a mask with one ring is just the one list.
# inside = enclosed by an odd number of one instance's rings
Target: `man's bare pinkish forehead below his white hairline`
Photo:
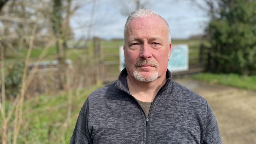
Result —
[[138, 17], [130, 21], [127, 28], [127, 38], [133, 36], [167, 36], [167, 24], [163, 19], [157, 16]]

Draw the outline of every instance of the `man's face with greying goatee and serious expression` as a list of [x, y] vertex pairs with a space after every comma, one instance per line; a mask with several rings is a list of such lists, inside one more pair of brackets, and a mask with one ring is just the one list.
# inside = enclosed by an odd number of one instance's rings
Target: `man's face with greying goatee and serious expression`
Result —
[[128, 75], [143, 82], [165, 77], [171, 54], [167, 36], [166, 23], [159, 17], [132, 19], [124, 46]]

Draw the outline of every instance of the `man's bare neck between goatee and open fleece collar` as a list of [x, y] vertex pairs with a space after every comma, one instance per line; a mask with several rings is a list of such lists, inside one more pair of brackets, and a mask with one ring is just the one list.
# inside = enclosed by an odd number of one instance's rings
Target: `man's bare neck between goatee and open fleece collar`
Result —
[[152, 102], [160, 88], [166, 83], [165, 75], [151, 82], [140, 82], [129, 74], [126, 79], [131, 95], [143, 102]]

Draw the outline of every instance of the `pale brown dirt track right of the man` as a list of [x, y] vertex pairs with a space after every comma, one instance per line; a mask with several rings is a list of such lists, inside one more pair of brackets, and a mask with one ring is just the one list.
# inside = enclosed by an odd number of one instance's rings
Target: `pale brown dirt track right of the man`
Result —
[[216, 116], [223, 144], [256, 144], [256, 92], [174, 79], [203, 96]]

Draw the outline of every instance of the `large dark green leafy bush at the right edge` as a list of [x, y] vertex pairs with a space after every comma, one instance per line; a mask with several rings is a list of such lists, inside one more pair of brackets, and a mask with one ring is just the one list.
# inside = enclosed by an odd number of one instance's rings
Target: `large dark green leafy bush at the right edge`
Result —
[[219, 18], [210, 21], [207, 33], [211, 43], [208, 70], [256, 74], [256, 1], [230, 1]]

